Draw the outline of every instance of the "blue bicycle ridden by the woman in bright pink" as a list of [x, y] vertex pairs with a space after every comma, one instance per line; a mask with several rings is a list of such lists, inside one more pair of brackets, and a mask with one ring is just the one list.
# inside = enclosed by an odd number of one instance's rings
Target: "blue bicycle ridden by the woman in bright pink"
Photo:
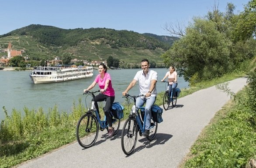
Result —
[[[104, 115], [104, 120], [100, 121], [100, 114], [97, 112], [94, 105], [94, 101], [93, 101], [95, 97], [94, 93], [97, 93], [97, 92], [100, 92], [100, 91], [94, 91], [94, 92], [87, 91], [86, 93], [83, 93], [83, 94], [90, 95], [90, 98], [93, 97], [91, 101], [90, 109], [86, 112], [86, 114], [84, 114], [79, 119], [76, 126], [76, 139], [80, 144], [80, 146], [82, 146], [83, 148], [89, 148], [95, 143], [99, 134], [99, 128], [100, 128], [100, 131], [104, 131], [104, 129], [106, 128], [108, 132], [109, 125], [107, 124], [106, 116]], [[85, 98], [85, 102], [86, 102], [86, 98]], [[117, 134], [120, 127], [120, 119], [116, 118], [114, 115], [112, 116], [113, 116], [112, 127], [114, 128], [114, 135], [115, 135]]]

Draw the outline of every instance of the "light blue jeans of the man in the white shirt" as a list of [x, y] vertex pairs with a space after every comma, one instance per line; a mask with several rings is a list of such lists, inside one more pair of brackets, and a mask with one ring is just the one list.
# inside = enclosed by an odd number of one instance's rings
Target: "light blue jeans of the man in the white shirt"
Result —
[[151, 124], [151, 106], [155, 103], [156, 97], [147, 97], [147, 98], [142, 98], [142, 97], [137, 97], [136, 99], [136, 109], [138, 110], [138, 107], [142, 107], [145, 103], [145, 115], [146, 115], [146, 120], [145, 122], [145, 129], [149, 130], [150, 124]]

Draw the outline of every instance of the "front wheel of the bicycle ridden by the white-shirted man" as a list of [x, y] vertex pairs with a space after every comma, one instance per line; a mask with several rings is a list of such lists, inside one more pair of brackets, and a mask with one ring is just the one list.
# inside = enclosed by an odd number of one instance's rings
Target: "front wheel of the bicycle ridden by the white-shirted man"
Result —
[[135, 118], [128, 118], [125, 121], [122, 134], [121, 145], [125, 155], [130, 155], [135, 149], [136, 141], [138, 137], [137, 124]]

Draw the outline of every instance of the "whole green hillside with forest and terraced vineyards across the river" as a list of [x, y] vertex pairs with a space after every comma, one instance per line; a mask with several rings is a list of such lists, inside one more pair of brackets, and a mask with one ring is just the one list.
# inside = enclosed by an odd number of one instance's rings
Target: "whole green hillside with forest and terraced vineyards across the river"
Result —
[[[13, 49], [25, 50], [31, 59], [54, 59], [69, 53], [72, 58], [107, 60], [109, 56], [133, 63], [143, 58], [162, 63], [160, 55], [170, 48], [170, 43], [156, 37], [128, 30], [107, 28], [60, 29], [58, 27], [29, 25], [0, 36], [0, 50], [8, 43]], [[0, 53], [6, 55], [7, 53]]]

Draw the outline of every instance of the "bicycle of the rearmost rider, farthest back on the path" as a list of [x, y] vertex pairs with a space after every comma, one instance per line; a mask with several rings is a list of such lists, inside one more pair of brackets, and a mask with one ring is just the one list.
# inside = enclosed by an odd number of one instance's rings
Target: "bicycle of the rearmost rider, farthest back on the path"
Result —
[[[172, 87], [171, 84], [169, 84], [169, 81], [163, 81], [167, 83], [167, 89], [163, 95], [163, 108], [165, 110], [168, 110], [169, 106], [170, 106], [170, 102], [172, 102], [173, 107], [176, 106], [177, 103], [177, 97], [176, 97], [176, 93], [173, 93], [173, 90], [171, 89], [171, 91], [169, 92], [169, 88]], [[173, 97], [171, 99], [171, 97]]]

